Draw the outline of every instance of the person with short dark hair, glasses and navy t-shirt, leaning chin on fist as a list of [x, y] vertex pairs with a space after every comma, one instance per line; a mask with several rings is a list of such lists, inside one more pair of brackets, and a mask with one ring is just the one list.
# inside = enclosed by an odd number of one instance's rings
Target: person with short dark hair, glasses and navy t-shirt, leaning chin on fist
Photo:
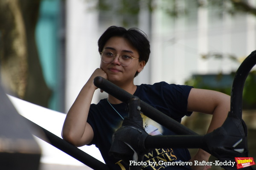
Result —
[[[143, 31], [137, 28], [126, 30], [123, 27], [109, 27], [98, 40], [100, 67], [96, 68], [76, 101], [67, 113], [62, 137], [75, 146], [95, 144], [99, 148], [105, 163], [111, 170], [128, 170], [122, 160], [109, 156], [113, 133], [128, 116], [127, 105], [108, 94], [98, 104], [91, 104], [97, 87], [93, 79], [101, 76], [139, 97], [143, 102], [158, 109], [172, 119], [180, 122], [183, 116], [193, 111], [212, 114], [207, 133], [220, 127], [230, 109], [230, 96], [211, 90], [196, 89], [187, 85], [157, 82], [153, 85], [134, 85], [136, 77], [148, 62], [150, 44]], [[171, 130], [157, 122], [143, 117], [143, 127], [149, 135], [175, 135]], [[159, 162], [208, 161], [210, 154], [199, 149], [191, 159], [190, 153], [183, 148], [156, 148], [144, 155], [144, 162], [155, 162], [142, 166], [143, 170], [206, 170], [209, 167], [177, 165], [165, 166]]]

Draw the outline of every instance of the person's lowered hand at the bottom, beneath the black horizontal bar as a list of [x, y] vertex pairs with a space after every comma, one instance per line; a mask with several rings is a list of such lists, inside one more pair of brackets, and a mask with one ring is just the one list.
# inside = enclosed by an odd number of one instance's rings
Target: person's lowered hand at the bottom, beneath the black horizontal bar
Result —
[[208, 170], [211, 168], [210, 165], [195, 165], [195, 161], [198, 161], [198, 162], [208, 162], [209, 160], [209, 157], [210, 157], [210, 154], [207, 153], [206, 151], [202, 150], [202, 149], [199, 149], [198, 152], [195, 154], [195, 156], [190, 159], [191, 162], [193, 162], [191, 169], [192, 170]]

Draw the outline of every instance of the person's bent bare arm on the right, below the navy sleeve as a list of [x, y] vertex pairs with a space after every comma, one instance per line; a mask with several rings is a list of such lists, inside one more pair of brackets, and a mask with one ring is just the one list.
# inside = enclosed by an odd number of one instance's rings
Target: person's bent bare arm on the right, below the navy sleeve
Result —
[[[192, 88], [188, 98], [188, 111], [212, 114], [212, 120], [207, 133], [212, 132], [226, 120], [227, 114], [230, 111], [230, 96], [217, 91]], [[192, 160], [208, 161], [209, 156], [209, 153], [199, 149]], [[199, 169], [198, 166], [195, 168]], [[203, 170], [206, 167], [201, 168]]]

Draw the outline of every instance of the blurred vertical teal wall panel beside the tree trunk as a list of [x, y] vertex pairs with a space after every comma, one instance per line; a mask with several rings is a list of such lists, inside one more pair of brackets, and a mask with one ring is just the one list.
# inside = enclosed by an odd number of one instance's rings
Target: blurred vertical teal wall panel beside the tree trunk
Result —
[[39, 59], [41, 61], [44, 78], [48, 87], [52, 90], [49, 108], [61, 111], [59, 88], [60, 71], [60, 0], [42, 0], [38, 24], [36, 28], [36, 41], [38, 45]]

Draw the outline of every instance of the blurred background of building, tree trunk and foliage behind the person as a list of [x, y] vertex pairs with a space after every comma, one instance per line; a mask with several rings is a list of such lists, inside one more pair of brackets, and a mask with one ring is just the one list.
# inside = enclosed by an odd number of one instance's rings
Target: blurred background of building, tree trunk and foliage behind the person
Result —
[[[230, 95], [236, 70], [256, 50], [256, 0], [1, 0], [6, 93], [67, 113], [99, 67], [97, 40], [113, 25], [140, 28], [151, 42], [138, 85], [166, 81]], [[256, 158], [255, 87], [254, 67], [244, 86], [243, 116]], [[93, 103], [105, 96], [97, 91]], [[202, 134], [209, 119], [195, 113], [182, 123]]]

